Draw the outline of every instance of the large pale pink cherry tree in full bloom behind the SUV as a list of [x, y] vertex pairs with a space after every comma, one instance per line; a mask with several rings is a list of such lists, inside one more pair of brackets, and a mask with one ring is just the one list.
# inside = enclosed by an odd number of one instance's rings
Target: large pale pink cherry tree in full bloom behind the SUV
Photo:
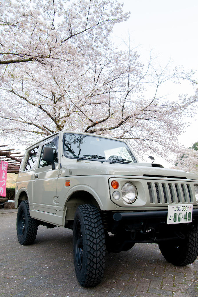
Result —
[[130, 42], [114, 48], [112, 28], [127, 18], [117, 1], [3, 0], [1, 135], [32, 143], [67, 129], [124, 138], [141, 152], [178, 149], [197, 98], [161, 97], [175, 73], [152, 57], [142, 65]]

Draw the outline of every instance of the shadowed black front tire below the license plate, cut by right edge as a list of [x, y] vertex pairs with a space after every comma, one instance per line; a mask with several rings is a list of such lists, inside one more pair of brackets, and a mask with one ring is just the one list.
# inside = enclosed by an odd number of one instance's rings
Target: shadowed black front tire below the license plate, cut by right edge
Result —
[[198, 256], [198, 229], [190, 230], [183, 240], [159, 243], [159, 249], [173, 265], [186, 266], [193, 263]]

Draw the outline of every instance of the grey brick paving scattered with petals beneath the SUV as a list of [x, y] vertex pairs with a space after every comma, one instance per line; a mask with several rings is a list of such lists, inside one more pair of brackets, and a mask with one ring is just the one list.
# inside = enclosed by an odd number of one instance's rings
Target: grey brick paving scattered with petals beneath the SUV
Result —
[[22, 246], [15, 226], [16, 213], [0, 214], [0, 297], [198, 296], [198, 260], [175, 267], [156, 244], [107, 255], [102, 283], [82, 288], [74, 270], [72, 231], [39, 226], [34, 244]]

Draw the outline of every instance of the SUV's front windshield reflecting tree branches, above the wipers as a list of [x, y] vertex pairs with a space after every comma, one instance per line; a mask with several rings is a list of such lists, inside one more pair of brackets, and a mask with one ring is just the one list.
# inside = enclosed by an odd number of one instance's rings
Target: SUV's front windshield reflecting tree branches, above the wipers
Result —
[[64, 134], [64, 154], [72, 159], [100, 159], [103, 162], [125, 159], [137, 162], [129, 147], [122, 141], [76, 133]]

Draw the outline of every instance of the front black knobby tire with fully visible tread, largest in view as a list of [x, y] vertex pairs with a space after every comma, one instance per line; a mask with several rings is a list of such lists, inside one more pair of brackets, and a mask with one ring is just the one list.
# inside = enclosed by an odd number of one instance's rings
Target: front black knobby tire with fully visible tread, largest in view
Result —
[[98, 285], [105, 266], [105, 234], [95, 205], [78, 206], [73, 225], [73, 255], [76, 277], [83, 287]]

